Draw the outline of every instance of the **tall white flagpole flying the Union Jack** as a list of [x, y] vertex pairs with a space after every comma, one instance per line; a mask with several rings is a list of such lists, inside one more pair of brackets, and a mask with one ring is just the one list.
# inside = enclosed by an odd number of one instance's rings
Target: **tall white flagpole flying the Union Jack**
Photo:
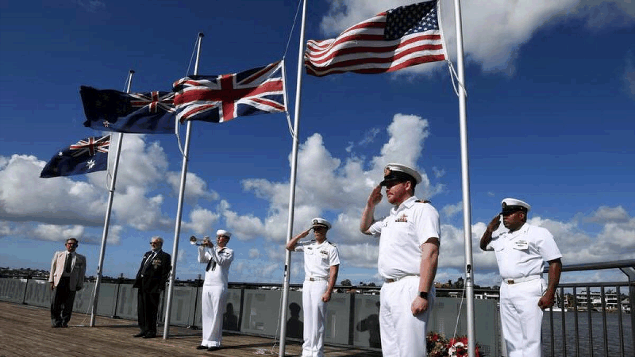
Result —
[[[302, 69], [304, 69], [304, 22], [307, 15], [307, 0], [302, 1], [302, 25], [300, 25], [300, 46], [298, 49], [298, 73], [295, 86], [295, 112], [293, 118], [293, 151], [291, 154], [291, 182], [289, 187], [289, 219], [287, 222], [286, 242], [289, 243], [293, 234], [293, 209], [295, 206], [295, 176], [298, 166], [298, 127], [300, 124], [300, 93], [302, 93]], [[291, 252], [284, 250], [284, 278], [282, 290], [282, 304], [280, 313], [280, 351], [284, 356], [286, 348], [286, 310], [289, 302], [289, 278], [291, 273]]]

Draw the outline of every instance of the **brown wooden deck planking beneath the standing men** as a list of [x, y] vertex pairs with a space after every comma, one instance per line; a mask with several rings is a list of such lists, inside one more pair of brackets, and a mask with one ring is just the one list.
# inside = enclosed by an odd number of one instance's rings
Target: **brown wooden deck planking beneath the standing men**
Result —
[[[51, 328], [50, 310], [0, 302], [0, 356], [277, 356], [271, 337], [223, 333], [218, 351], [197, 350], [201, 330], [170, 327], [170, 338], [134, 338], [137, 322], [73, 313], [69, 328]], [[163, 333], [163, 327], [159, 328]], [[326, 356], [381, 356], [377, 349], [354, 346], [324, 346]], [[302, 344], [288, 340], [286, 356], [300, 356]]]

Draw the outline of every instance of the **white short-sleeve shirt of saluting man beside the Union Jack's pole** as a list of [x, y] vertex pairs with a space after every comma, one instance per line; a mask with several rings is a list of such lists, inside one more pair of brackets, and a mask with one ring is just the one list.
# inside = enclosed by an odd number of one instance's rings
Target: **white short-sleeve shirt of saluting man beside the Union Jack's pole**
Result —
[[331, 266], [340, 264], [337, 247], [324, 240], [298, 243], [294, 252], [304, 252], [304, 274], [307, 278], [329, 278]]

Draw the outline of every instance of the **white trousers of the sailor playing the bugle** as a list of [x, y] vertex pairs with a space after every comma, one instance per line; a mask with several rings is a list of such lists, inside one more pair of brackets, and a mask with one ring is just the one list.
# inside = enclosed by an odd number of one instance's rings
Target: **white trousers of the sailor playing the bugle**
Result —
[[203, 285], [203, 296], [201, 297], [203, 341], [201, 346], [220, 347], [223, 338], [225, 300], [227, 300], [227, 286]]

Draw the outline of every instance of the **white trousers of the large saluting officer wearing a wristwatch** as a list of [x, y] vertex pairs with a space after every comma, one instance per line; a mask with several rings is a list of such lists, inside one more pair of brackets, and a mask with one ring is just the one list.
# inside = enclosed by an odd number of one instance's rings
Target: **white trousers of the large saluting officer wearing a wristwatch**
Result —
[[419, 277], [407, 276], [384, 283], [380, 294], [379, 331], [382, 354], [386, 356], [425, 356], [425, 333], [434, 306], [434, 288], [428, 292], [428, 308], [413, 316], [411, 306], [419, 295]]

